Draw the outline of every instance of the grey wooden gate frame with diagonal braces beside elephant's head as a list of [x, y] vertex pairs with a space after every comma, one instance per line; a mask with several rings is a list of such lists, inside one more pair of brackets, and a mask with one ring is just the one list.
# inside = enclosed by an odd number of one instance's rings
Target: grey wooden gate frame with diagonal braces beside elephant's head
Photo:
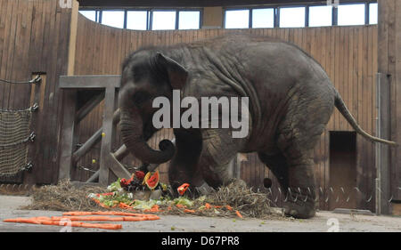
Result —
[[[60, 77], [60, 88], [63, 90], [63, 120], [59, 180], [70, 179], [71, 170], [77, 167], [79, 158], [99, 141], [102, 141], [100, 168], [86, 182], [99, 179], [100, 184], [107, 185], [110, 170], [119, 177], [130, 177], [127, 169], [112, 158], [120, 160], [127, 156], [125, 146], [121, 146], [115, 154], [110, 154], [111, 145], [115, 140], [116, 125], [119, 123], [119, 109], [116, 109], [119, 79], [120, 76]], [[77, 147], [79, 122], [102, 100], [102, 127]]]

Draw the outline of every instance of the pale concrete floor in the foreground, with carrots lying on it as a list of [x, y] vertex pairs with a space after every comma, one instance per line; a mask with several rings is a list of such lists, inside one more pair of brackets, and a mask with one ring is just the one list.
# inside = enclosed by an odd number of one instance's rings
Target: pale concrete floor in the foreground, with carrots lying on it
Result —
[[[59, 216], [62, 213], [56, 211], [29, 211], [19, 210], [20, 206], [29, 204], [27, 197], [0, 196], [0, 231], [60, 231], [63, 227], [45, 226], [22, 223], [6, 223], [4, 219], [16, 217], [34, 216]], [[331, 212], [319, 212], [309, 220], [258, 220], [258, 219], [233, 219], [210, 218], [200, 216], [160, 215], [158, 221], [148, 222], [116, 222], [122, 224], [122, 230], [117, 231], [163, 231], [163, 232], [236, 232], [236, 231], [263, 231], [263, 232], [323, 232], [323, 231], [398, 231], [401, 232], [401, 217], [370, 216], [333, 214]], [[72, 231], [106, 231], [73, 228]], [[116, 230], [112, 230], [116, 231]]]

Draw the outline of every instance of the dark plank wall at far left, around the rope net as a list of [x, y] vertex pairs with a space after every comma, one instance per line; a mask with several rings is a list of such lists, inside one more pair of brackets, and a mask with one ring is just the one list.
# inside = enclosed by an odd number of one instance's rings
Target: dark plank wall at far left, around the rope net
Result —
[[[0, 0], [0, 78], [25, 81], [33, 73], [46, 74], [38, 86], [40, 109], [32, 128], [37, 133], [31, 151], [32, 173], [1, 181], [57, 181], [57, 114], [61, 108], [57, 85], [59, 77], [66, 74], [69, 34], [70, 9], [61, 9], [58, 0]], [[29, 85], [0, 83], [0, 109], [27, 109], [30, 94]]]

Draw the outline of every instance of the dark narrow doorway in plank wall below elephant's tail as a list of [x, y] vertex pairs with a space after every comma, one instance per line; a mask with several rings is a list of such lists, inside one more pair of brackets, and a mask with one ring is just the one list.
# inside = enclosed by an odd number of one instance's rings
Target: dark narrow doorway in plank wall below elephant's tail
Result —
[[356, 133], [330, 132], [329, 210], [356, 208]]

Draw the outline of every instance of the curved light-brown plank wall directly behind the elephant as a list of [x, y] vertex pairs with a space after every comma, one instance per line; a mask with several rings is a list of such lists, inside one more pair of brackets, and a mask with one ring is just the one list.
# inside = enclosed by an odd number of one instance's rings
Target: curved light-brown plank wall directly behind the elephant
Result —
[[[208, 37], [220, 36], [228, 32], [242, 32], [261, 36], [280, 37], [282, 40], [298, 44], [318, 60], [327, 71], [336, 88], [340, 91], [348, 109], [358, 123], [368, 133], [375, 133], [375, 74], [377, 72], [377, 26], [327, 27], [327, 28], [255, 28], [243, 30], [201, 29], [174, 31], [132, 31], [110, 28], [78, 17], [78, 40], [75, 58], [75, 75], [120, 74], [121, 61], [136, 49], [147, 45], [169, 45], [188, 43]], [[95, 109], [87, 122], [81, 124], [82, 142], [101, 126], [102, 104]], [[335, 110], [329, 125], [315, 148], [315, 178], [323, 188], [326, 198], [330, 189], [329, 176], [329, 131], [352, 131], [350, 125]], [[171, 133], [162, 132], [171, 137]], [[160, 140], [160, 138], [158, 138]], [[117, 146], [116, 146], [117, 147]], [[374, 145], [361, 136], [356, 138], [356, 185], [367, 197], [360, 198], [359, 207], [374, 210]], [[92, 156], [81, 161], [89, 165]], [[249, 155], [248, 162], [241, 165], [241, 178], [253, 186], [261, 186], [265, 176], [274, 177], [262, 165], [255, 154]], [[135, 160], [131, 163], [137, 165]], [[161, 167], [167, 171], [166, 166]], [[85, 173], [79, 173], [82, 178]], [[87, 173], [89, 176], [90, 173]], [[164, 177], [165, 178], [165, 177]], [[274, 180], [274, 184], [275, 184]], [[351, 191], [351, 190], [349, 190]], [[373, 196], [372, 200], [365, 202]], [[322, 201], [321, 207], [327, 206]]]

